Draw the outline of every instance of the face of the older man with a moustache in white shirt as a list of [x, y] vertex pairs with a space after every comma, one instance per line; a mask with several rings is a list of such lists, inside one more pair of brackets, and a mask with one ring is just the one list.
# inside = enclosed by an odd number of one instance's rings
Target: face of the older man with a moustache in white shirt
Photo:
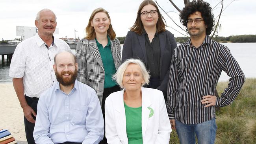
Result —
[[52, 36], [56, 26], [56, 17], [52, 11], [41, 11], [39, 20], [35, 20], [39, 35]]

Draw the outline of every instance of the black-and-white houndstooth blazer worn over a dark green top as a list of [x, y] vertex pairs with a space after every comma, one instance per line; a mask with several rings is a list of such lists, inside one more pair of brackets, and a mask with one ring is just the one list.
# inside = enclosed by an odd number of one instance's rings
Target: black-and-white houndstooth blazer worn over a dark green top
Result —
[[[121, 46], [117, 38], [111, 40], [111, 52], [115, 68], [119, 68], [121, 60]], [[105, 72], [100, 52], [95, 39], [81, 39], [76, 46], [76, 60], [78, 63], [77, 80], [92, 87], [102, 103]]]

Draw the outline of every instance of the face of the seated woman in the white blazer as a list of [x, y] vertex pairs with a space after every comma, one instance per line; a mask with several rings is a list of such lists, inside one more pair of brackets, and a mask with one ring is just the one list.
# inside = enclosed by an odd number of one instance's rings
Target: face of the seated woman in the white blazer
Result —
[[143, 74], [139, 65], [131, 63], [124, 71], [122, 83], [126, 90], [140, 90], [144, 83]]

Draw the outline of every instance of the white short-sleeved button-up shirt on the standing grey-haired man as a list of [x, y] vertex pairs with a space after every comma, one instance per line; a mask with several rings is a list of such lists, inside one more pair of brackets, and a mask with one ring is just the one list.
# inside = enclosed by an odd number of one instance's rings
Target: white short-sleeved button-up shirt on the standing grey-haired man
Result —
[[40, 94], [57, 82], [53, 70], [54, 56], [70, 51], [69, 45], [54, 38], [48, 49], [38, 34], [17, 45], [11, 59], [9, 76], [23, 78], [24, 93], [39, 98]]

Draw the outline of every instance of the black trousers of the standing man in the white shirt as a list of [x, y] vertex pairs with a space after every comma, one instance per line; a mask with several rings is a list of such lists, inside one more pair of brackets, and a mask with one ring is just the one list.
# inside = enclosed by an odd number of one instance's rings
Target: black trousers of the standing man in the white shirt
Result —
[[[25, 98], [28, 105], [35, 111], [35, 113], [37, 113], [37, 102], [39, 99], [36, 97], [30, 98], [26, 95], [25, 95]], [[32, 117], [35, 120], [35, 116], [33, 116], [33, 114], [32, 114]], [[34, 131], [35, 124], [29, 122], [24, 116], [24, 125], [25, 125], [25, 132], [26, 132], [26, 138], [27, 138], [28, 144], [35, 144], [35, 140], [33, 138], [33, 131]]]

